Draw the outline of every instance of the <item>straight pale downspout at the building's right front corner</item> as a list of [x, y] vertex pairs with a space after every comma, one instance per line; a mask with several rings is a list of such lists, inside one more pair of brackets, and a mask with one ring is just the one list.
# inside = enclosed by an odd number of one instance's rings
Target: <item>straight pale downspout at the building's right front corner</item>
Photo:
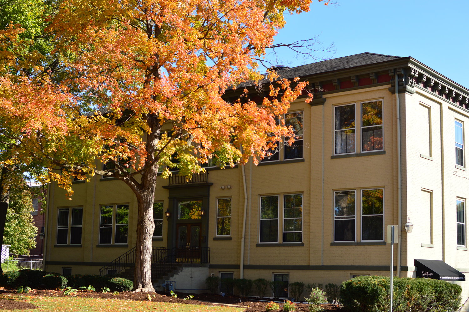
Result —
[[397, 225], [399, 226], [399, 240], [397, 242], [397, 277], [401, 275], [401, 232], [402, 232], [402, 212], [401, 212], [401, 107], [399, 103], [399, 81], [397, 69], [394, 78], [394, 95], [396, 96], [396, 127], [397, 127]]

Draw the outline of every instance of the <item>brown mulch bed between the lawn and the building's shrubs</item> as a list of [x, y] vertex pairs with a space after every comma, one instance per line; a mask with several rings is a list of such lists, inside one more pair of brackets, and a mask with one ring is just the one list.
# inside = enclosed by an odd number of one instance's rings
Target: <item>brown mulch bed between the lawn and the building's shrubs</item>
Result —
[[[40, 296], [40, 297], [66, 297], [63, 295], [61, 290], [50, 290], [50, 289], [33, 289], [28, 294], [17, 294], [15, 289], [4, 289], [0, 288], [0, 296], [2, 294], [15, 294], [15, 295], [24, 295], [24, 296]], [[136, 301], [148, 301], [148, 296], [151, 296], [151, 301], [155, 302], [169, 302], [169, 303], [178, 303], [178, 304], [202, 304], [202, 305], [213, 305], [217, 304], [235, 304], [239, 307], [245, 307], [245, 312], [265, 312], [265, 304], [267, 301], [272, 299], [263, 298], [265, 301], [256, 301], [253, 298], [240, 298], [240, 297], [222, 297], [220, 295], [212, 294], [186, 294], [186, 293], [176, 293], [177, 298], [171, 297], [169, 292], [157, 292], [157, 293], [133, 293], [123, 291], [117, 295], [113, 293], [102, 293], [102, 292], [88, 292], [88, 291], [78, 291], [76, 294], [72, 295], [74, 297], [85, 297], [85, 298], [113, 298], [113, 299], [127, 299], [127, 300], [136, 300]], [[193, 295], [192, 300], [184, 300], [188, 295]], [[154, 296], [154, 297], [153, 297]], [[282, 300], [275, 300], [280, 301]], [[280, 304], [280, 310], [282, 304]], [[308, 304], [296, 304], [296, 311], [299, 312], [308, 312]], [[346, 312], [345, 310], [334, 307], [332, 304], [324, 305], [325, 310], [334, 311], [334, 312]], [[23, 301], [17, 301], [13, 299], [0, 299], [0, 310], [1, 309], [36, 309], [34, 304], [30, 304]]]

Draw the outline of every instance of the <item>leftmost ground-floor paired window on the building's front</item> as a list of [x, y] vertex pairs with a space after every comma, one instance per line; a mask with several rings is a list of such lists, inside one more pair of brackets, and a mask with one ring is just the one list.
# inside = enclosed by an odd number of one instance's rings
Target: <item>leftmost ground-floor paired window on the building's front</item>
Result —
[[82, 244], [83, 208], [59, 208], [57, 215], [57, 244]]

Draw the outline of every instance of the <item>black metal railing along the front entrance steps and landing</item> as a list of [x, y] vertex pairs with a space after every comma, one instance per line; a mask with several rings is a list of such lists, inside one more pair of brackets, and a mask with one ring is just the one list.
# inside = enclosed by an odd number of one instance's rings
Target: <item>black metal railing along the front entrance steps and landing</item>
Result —
[[[117, 275], [129, 267], [135, 266], [136, 247], [114, 259], [109, 265], [99, 269], [99, 275]], [[151, 276], [166, 274], [174, 264], [178, 263], [210, 263], [209, 247], [182, 247], [167, 249], [151, 248]]]

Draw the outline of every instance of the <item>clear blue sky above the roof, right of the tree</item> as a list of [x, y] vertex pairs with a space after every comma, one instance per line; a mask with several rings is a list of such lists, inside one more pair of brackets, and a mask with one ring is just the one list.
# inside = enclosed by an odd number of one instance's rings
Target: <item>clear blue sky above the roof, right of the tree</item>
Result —
[[[412, 56], [454, 82], [469, 88], [468, 0], [338, 0], [324, 6], [313, 0], [311, 10], [285, 15], [286, 26], [274, 43], [319, 36], [323, 46], [334, 44], [341, 57], [363, 52]], [[296, 59], [277, 51], [279, 65], [298, 66], [314, 60]]]

